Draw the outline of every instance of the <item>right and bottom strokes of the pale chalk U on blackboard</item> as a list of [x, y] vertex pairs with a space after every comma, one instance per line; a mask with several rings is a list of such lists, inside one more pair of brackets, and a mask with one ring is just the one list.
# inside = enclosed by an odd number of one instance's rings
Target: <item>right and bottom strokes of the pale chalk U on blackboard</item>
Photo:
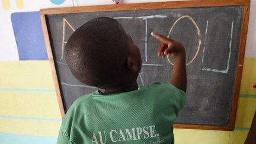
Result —
[[229, 60], [231, 57], [231, 48], [232, 48], [232, 38], [233, 38], [233, 21], [231, 24], [231, 36], [230, 36], [230, 41], [229, 41], [229, 57], [228, 57], [228, 62], [225, 70], [218, 70], [218, 69], [210, 69], [210, 68], [202, 68], [202, 71], [212, 71], [212, 72], [220, 72], [220, 73], [228, 73], [229, 71]]

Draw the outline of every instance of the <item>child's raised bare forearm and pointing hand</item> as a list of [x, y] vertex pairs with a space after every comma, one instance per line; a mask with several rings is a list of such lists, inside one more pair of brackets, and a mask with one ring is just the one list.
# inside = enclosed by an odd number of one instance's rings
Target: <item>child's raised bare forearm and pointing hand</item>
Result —
[[171, 73], [171, 84], [184, 92], [187, 89], [187, 75], [185, 64], [185, 48], [178, 41], [168, 39], [160, 34], [151, 33], [153, 37], [161, 41], [158, 46], [158, 56], [174, 56], [174, 68]]

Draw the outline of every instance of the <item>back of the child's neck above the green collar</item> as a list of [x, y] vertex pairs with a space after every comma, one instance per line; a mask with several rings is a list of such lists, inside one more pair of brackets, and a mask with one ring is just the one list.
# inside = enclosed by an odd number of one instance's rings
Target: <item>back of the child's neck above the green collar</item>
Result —
[[121, 87], [107, 88], [107, 89], [105, 89], [103, 94], [116, 94], [116, 93], [120, 93], [120, 92], [134, 91], [138, 88], [139, 87], [137, 85], [137, 82], [135, 82], [134, 84], [122, 85]]

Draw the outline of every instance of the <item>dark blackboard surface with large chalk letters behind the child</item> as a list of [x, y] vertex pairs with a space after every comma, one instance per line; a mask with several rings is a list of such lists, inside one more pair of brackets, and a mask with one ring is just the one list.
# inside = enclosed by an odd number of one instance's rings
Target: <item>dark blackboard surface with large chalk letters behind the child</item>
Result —
[[63, 55], [65, 43], [73, 31], [87, 21], [96, 17], [111, 17], [123, 25], [140, 49], [142, 70], [137, 78], [139, 85], [168, 82], [172, 71], [172, 59], [157, 57], [159, 41], [151, 37], [152, 31], [178, 40], [185, 47], [187, 101], [175, 121], [177, 126], [233, 129], [230, 128], [231, 119], [235, 119], [232, 113], [234, 108], [236, 111], [237, 83], [240, 83], [237, 77], [241, 75], [241, 72], [238, 75], [238, 69], [242, 67], [239, 59], [244, 59], [241, 55], [243, 12], [244, 5], [222, 5], [121, 11], [78, 10], [43, 15], [65, 111], [81, 95], [97, 90], [74, 78]]

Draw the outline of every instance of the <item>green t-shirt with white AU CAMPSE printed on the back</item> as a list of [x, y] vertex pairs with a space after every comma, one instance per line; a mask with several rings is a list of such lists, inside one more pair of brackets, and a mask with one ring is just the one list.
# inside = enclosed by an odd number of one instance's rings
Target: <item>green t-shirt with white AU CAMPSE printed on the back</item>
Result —
[[71, 105], [57, 143], [174, 143], [172, 125], [184, 104], [185, 92], [169, 83], [110, 95], [96, 91]]

